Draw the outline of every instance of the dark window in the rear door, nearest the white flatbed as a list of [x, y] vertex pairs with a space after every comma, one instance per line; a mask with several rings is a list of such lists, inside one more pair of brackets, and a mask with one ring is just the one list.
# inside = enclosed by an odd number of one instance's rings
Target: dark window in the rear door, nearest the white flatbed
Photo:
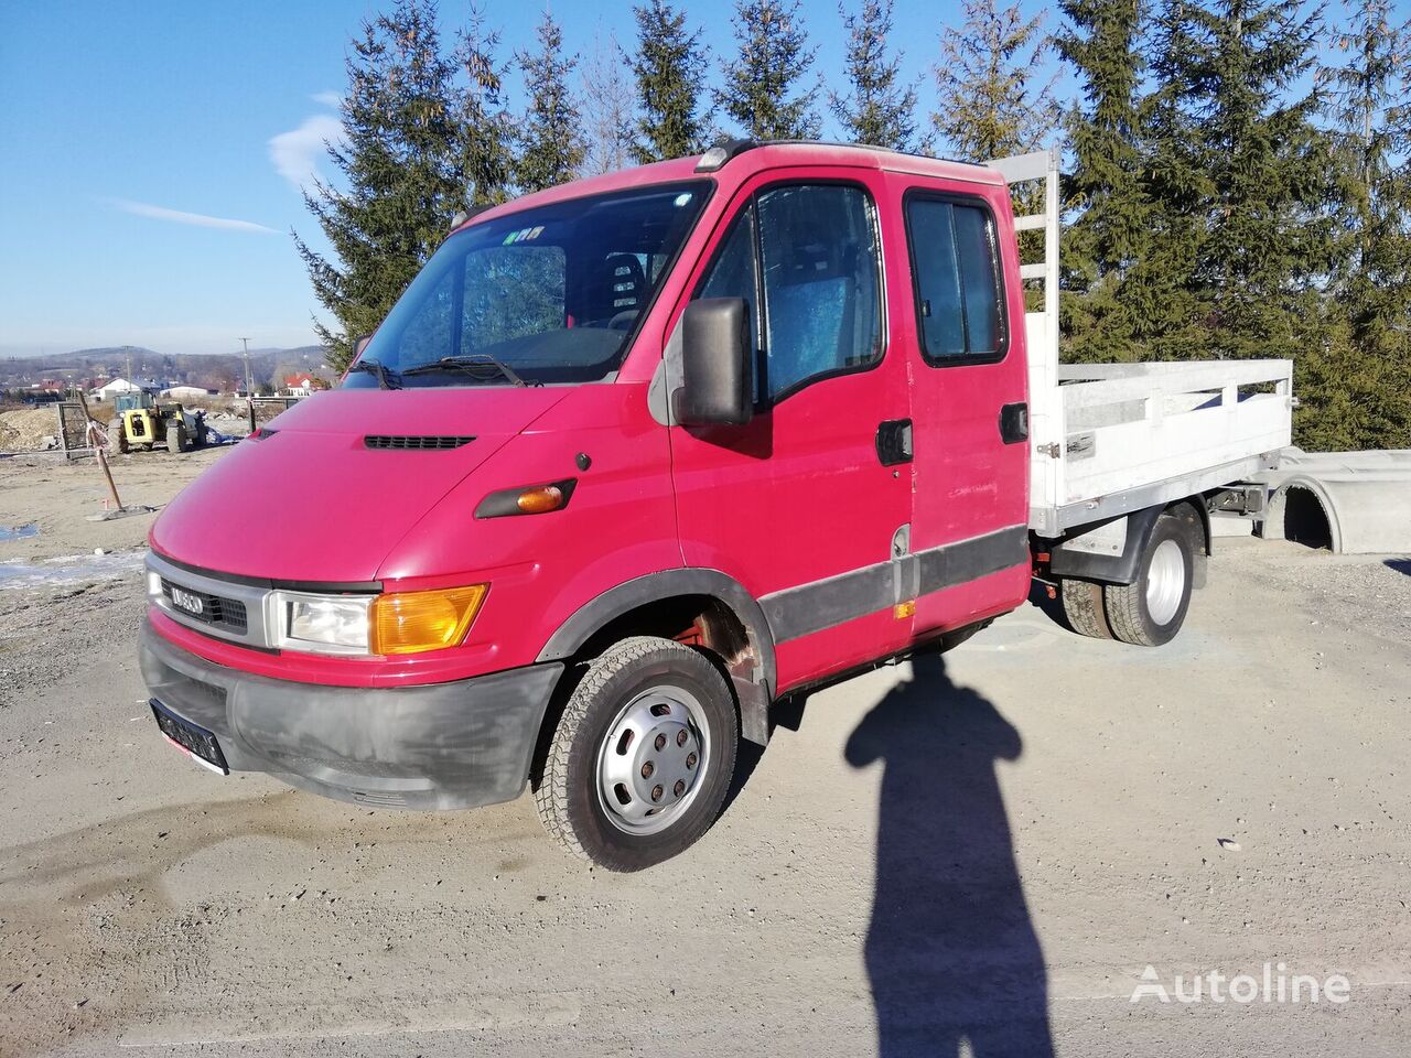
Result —
[[1005, 353], [995, 221], [981, 206], [913, 197], [906, 205], [921, 354], [933, 367]]

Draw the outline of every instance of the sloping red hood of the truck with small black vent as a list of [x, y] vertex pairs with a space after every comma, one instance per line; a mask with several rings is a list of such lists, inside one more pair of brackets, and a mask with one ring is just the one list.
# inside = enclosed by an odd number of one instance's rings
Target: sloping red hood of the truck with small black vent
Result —
[[[152, 526], [176, 561], [288, 581], [370, 581], [396, 542], [569, 388], [333, 389], [277, 416]], [[388, 447], [370, 447], [374, 444]], [[404, 439], [473, 437], [457, 447]], [[447, 442], [452, 443], [452, 442]]]

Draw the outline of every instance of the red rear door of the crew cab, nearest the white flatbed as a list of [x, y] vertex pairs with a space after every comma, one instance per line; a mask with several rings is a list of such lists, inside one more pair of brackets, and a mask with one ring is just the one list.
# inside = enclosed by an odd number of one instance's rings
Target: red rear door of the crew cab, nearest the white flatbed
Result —
[[926, 638], [1027, 594], [1024, 315], [1003, 267], [1015, 238], [1005, 186], [896, 179], [913, 295], [897, 333], [916, 419], [914, 635]]

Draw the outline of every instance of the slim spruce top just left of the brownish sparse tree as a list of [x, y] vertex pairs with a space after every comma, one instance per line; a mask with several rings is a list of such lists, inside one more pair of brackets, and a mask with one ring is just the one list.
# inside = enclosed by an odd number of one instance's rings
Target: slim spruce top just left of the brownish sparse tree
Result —
[[862, 0], [858, 14], [838, 13], [848, 31], [847, 76], [851, 93], [828, 93], [828, 104], [844, 134], [856, 144], [916, 148], [916, 87], [900, 79], [900, 55], [888, 55], [892, 0]]

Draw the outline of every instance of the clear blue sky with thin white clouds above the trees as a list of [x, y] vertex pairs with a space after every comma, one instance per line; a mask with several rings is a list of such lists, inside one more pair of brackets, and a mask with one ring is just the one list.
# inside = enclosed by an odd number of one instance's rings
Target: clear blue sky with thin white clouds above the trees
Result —
[[[729, 0], [684, 0], [717, 65]], [[858, 4], [849, 0], [848, 7]], [[52, 0], [0, 7], [0, 355], [99, 344], [220, 353], [313, 341], [319, 306], [289, 238], [333, 134], [344, 54], [371, 0]], [[1026, 0], [1031, 11], [1038, 0]], [[930, 109], [958, 4], [896, 0], [895, 41]], [[485, 0], [509, 48], [538, 3]], [[806, 0], [816, 71], [837, 78], [834, 0]], [[467, 3], [442, 3], [447, 31]], [[555, 4], [571, 48], [632, 41], [631, 0]], [[1053, 14], [1047, 16], [1051, 25]], [[713, 78], [714, 78], [713, 72]], [[831, 128], [825, 128], [831, 133]]]

